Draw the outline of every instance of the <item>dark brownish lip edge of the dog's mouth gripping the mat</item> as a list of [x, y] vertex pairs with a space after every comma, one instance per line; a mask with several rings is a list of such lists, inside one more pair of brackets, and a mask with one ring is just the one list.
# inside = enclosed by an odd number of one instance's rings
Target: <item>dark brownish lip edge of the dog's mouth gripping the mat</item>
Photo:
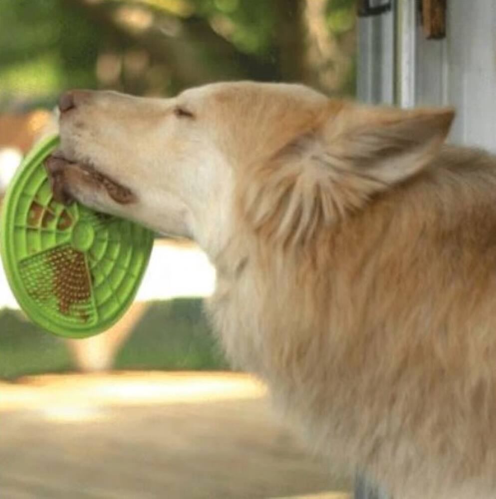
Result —
[[134, 194], [127, 187], [110, 180], [93, 168], [80, 165], [79, 163], [71, 163], [58, 156], [49, 156], [44, 164], [48, 172], [53, 199], [59, 203], [68, 204], [73, 199], [67, 189], [66, 179], [67, 169], [71, 168], [77, 168], [81, 176], [87, 182], [94, 184], [95, 187], [103, 186], [110, 198], [116, 203], [127, 205], [135, 200]]

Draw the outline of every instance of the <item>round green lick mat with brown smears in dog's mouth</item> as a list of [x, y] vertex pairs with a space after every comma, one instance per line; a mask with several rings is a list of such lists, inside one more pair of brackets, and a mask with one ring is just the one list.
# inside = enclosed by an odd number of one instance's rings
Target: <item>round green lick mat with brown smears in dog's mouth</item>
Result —
[[20, 307], [43, 329], [83, 338], [114, 324], [131, 305], [153, 233], [78, 203], [52, 198], [43, 161], [58, 137], [26, 156], [1, 206], [0, 253]]

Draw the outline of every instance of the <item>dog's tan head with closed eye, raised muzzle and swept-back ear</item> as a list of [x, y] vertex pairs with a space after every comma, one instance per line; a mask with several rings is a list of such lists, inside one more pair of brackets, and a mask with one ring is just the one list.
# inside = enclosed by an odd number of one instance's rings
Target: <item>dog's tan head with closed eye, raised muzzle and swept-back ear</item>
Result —
[[249, 82], [171, 99], [76, 90], [59, 107], [55, 191], [214, 252], [240, 213], [283, 241], [310, 237], [421, 171], [453, 119]]

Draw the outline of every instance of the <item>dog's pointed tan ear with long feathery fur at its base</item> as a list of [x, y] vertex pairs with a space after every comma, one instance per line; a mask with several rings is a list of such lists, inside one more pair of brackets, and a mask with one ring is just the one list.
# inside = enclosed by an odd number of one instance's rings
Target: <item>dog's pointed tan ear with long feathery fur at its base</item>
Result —
[[308, 240], [322, 224], [420, 172], [439, 152], [454, 112], [330, 101], [318, 116], [242, 183], [248, 222], [283, 245]]

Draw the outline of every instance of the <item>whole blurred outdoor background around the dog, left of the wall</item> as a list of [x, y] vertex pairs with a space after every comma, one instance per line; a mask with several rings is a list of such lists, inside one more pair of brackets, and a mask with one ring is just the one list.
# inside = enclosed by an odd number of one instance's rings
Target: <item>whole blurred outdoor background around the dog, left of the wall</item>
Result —
[[[0, 203], [65, 89], [252, 79], [353, 96], [355, 28], [353, 0], [1, 0]], [[71, 341], [30, 323], [0, 270], [1, 497], [344, 497], [229, 371], [202, 309], [214, 280], [194, 245], [157, 239], [126, 316]]]

